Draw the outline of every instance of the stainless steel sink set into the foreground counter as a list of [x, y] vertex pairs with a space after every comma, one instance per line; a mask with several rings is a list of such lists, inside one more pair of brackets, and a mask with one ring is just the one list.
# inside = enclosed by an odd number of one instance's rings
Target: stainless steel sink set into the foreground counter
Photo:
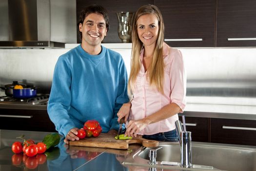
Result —
[[[159, 143], [159, 147], [163, 149], [157, 151], [158, 164], [154, 167], [184, 170], [175, 166], [175, 162], [180, 162], [179, 143]], [[149, 161], [148, 153], [150, 149], [154, 148], [140, 148], [134, 155], [126, 158], [123, 164], [149, 167], [147, 162]], [[163, 165], [164, 162], [162, 161], [173, 162], [174, 165]], [[256, 171], [256, 147], [192, 142], [192, 164], [195, 166], [211, 166], [205, 167], [205, 170], [208, 171]], [[186, 170], [202, 171], [204, 169], [191, 168]]]

